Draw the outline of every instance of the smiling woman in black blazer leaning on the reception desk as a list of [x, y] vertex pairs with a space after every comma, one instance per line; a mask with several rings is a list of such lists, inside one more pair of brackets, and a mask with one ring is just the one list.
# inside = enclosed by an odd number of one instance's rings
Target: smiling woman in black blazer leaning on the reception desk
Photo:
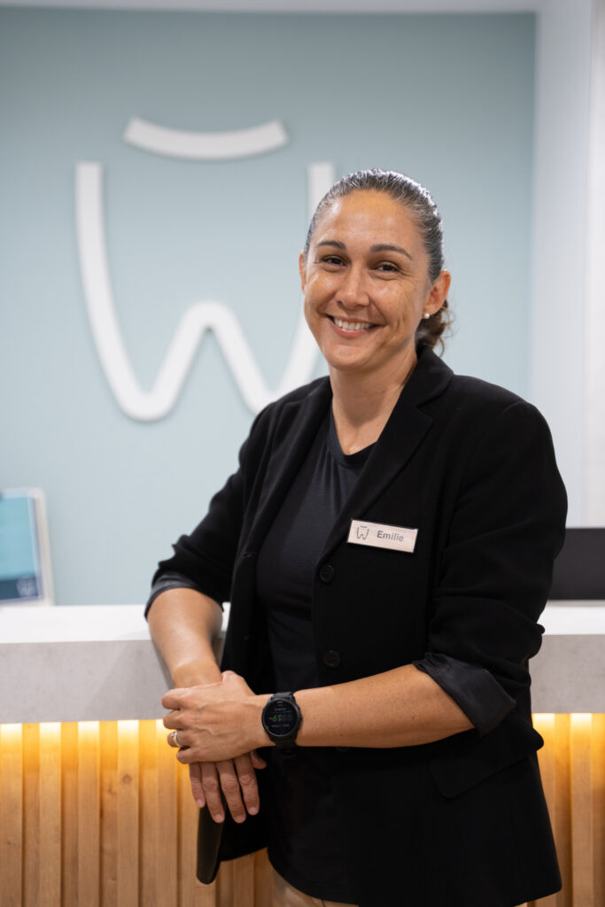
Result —
[[218, 860], [268, 844], [276, 905], [542, 897], [560, 877], [527, 663], [565, 517], [548, 427], [434, 355], [450, 275], [413, 180], [337, 182], [299, 268], [329, 379], [259, 414], [151, 596], [200, 878], [223, 823]]

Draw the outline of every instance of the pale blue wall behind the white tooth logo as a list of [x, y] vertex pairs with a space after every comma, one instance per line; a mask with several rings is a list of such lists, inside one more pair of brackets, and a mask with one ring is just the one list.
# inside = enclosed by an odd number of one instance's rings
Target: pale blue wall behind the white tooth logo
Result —
[[[210, 335], [177, 405], [117, 405], [86, 315], [74, 171], [104, 168], [122, 335], [148, 388], [190, 305], [237, 315], [268, 385], [298, 320], [307, 165], [410, 173], [444, 216], [446, 360], [528, 393], [533, 15], [0, 10], [0, 487], [47, 494], [60, 604], [143, 600], [155, 561], [236, 462], [252, 414]], [[277, 151], [179, 161], [133, 148], [278, 119]], [[321, 365], [317, 365], [319, 374]]]

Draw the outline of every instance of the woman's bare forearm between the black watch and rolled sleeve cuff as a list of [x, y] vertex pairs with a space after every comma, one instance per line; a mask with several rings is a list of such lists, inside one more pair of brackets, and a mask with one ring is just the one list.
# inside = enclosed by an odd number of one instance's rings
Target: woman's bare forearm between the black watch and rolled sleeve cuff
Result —
[[405, 665], [296, 693], [298, 746], [415, 746], [473, 727], [433, 678]]

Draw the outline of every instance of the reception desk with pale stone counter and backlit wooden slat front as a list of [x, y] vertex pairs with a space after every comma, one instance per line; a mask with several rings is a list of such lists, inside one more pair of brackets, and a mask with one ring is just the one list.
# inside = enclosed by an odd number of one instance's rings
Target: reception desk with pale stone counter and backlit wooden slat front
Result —
[[[542, 624], [532, 702], [564, 887], [540, 904], [603, 907], [605, 602], [550, 604]], [[0, 608], [3, 907], [269, 907], [264, 853], [195, 881], [169, 686], [140, 606]]]

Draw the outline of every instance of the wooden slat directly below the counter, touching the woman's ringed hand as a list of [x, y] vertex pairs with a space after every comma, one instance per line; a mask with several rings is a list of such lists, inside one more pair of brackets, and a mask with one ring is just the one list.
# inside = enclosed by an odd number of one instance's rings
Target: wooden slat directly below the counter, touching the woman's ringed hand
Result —
[[177, 884], [177, 778], [176, 750], [168, 745], [168, 731], [158, 721], [156, 746], [158, 759], [158, 852], [156, 865], [158, 878], [158, 907], [178, 907]]

